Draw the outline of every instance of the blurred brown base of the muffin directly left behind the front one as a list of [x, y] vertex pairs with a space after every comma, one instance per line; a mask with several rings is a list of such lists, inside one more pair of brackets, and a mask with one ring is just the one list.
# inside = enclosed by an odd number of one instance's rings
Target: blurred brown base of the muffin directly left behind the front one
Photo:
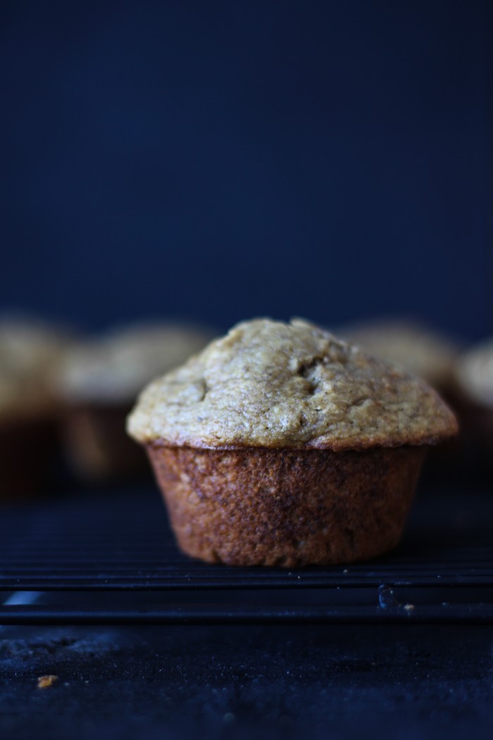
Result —
[[143, 475], [146, 456], [127, 436], [130, 406], [78, 406], [63, 423], [63, 443], [69, 465], [86, 482], [105, 482]]

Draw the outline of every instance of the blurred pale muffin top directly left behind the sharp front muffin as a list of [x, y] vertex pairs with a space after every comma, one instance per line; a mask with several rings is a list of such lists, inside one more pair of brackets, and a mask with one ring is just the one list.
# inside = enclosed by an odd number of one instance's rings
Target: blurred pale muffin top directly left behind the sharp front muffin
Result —
[[157, 374], [180, 365], [211, 340], [210, 330], [146, 322], [75, 347], [58, 372], [58, 392], [72, 403], [133, 403]]

